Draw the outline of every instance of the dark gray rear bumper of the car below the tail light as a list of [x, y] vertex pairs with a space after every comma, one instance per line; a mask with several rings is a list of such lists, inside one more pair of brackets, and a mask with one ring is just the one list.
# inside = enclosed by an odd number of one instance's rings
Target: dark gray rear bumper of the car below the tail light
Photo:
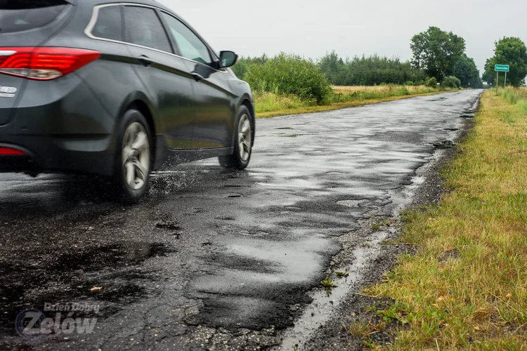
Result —
[[112, 175], [115, 117], [86, 84], [75, 74], [25, 84], [16, 107], [0, 109], [9, 116], [0, 125], [0, 145], [27, 156], [0, 155], [0, 172]]

